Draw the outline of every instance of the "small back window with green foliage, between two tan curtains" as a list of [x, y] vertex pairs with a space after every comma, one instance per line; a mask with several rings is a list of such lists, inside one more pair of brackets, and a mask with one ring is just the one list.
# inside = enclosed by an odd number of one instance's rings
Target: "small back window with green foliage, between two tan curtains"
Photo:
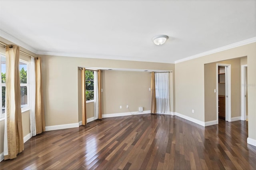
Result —
[[86, 101], [94, 101], [94, 71], [85, 71]]

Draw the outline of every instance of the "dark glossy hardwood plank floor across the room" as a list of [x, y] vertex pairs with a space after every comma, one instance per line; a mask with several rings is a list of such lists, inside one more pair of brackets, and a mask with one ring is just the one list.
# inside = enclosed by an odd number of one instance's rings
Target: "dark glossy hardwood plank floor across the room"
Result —
[[170, 115], [105, 118], [30, 138], [1, 169], [256, 169], [246, 121], [202, 127]]

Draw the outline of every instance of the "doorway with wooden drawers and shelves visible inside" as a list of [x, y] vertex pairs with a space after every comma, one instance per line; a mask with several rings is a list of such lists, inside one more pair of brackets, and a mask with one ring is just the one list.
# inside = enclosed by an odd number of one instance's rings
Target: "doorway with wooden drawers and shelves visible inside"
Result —
[[217, 63], [217, 121], [231, 122], [231, 65]]

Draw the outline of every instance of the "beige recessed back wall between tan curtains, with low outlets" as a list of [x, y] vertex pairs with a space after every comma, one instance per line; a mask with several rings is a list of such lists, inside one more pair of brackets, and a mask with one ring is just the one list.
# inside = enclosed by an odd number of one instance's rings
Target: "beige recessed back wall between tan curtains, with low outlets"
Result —
[[138, 107], [150, 110], [150, 80], [148, 72], [103, 71], [102, 113], [136, 112]]

